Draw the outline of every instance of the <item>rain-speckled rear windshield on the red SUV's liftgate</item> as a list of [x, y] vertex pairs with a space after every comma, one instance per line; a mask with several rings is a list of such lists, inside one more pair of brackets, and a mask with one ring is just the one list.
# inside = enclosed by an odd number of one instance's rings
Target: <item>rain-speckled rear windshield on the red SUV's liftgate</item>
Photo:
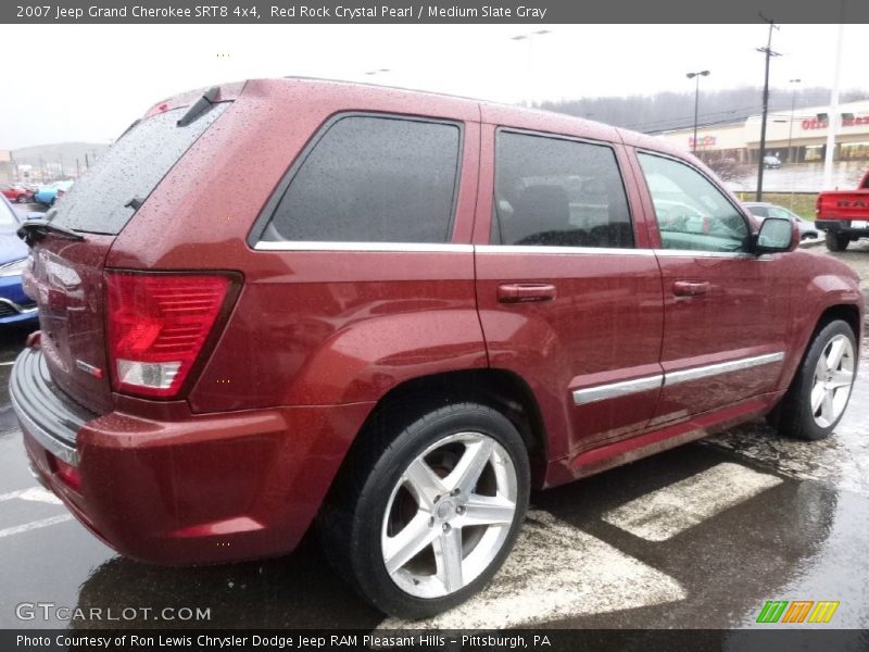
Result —
[[136, 212], [125, 205], [143, 202], [172, 166], [216, 121], [230, 102], [214, 106], [186, 127], [176, 125], [187, 108], [139, 122], [75, 183], [58, 203], [52, 221], [91, 234], [115, 236]]

